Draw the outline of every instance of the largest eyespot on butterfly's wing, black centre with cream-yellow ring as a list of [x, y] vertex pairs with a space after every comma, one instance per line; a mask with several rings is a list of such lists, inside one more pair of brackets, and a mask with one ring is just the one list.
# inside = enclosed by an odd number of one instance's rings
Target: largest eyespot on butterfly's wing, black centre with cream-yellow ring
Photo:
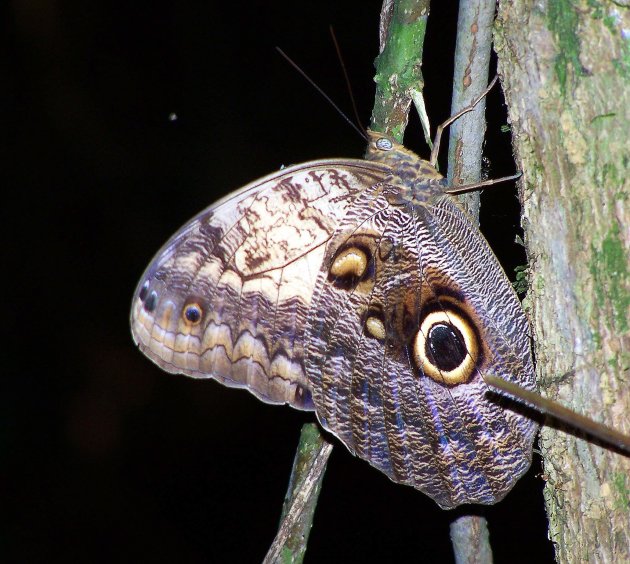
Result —
[[422, 372], [450, 386], [463, 384], [472, 377], [479, 354], [471, 322], [453, 309], [428, 313], [413, 342], [413, 357]]

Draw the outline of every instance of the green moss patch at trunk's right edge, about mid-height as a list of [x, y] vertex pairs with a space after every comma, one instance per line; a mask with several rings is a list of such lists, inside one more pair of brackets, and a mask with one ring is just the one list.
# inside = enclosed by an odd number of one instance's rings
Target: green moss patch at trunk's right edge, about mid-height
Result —
[[627, 331], [630, 308], [628, 263], [618, 225], [608, 231], [599, 249], [591, 246], [589, 269], [598, 306], [603, 309], [608, 305], [612, 310], [610, 327], [620, 333]]

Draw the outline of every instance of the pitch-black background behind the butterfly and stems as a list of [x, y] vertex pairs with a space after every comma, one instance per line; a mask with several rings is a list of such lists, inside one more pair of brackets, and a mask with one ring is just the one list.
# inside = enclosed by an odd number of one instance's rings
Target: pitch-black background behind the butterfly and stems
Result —
[[[425, 46], [433, 124], [449, 115], [451, 4], [434, 2]], [[131, 296], [168, 236], [225, 192], [281, 165], [362, 155], [274, 47], [350, 113], [333, 24], [367, 124], [380, 2], [8, 7], [0, 551], [22, 562], [260, 561], [314, 416], [161, 372], [131, 341]], [[498, 89], [488, 104], [498, 177], [514, 167]], [[426, 156], [419, 139], [410, 131], [407, 144]], [[524, 262], [514, 191], [490, 197], [482, 221], [511, 272]], [[552, 560], [539, 474], [486, 510], [496, 562]], [[307, 561], [448, 562], [455, 515], [337, 443]]]

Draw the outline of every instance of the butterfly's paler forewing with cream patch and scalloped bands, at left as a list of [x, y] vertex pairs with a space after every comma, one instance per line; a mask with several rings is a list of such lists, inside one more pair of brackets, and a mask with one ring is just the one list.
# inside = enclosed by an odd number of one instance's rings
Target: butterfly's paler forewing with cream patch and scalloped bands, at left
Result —
[[383, 171], [362, 160], [313, 161], [203, 211], [145, 271], [132, 303], [135, 342], [168, 372], [312, 409], [303, 331], [326, 243]]

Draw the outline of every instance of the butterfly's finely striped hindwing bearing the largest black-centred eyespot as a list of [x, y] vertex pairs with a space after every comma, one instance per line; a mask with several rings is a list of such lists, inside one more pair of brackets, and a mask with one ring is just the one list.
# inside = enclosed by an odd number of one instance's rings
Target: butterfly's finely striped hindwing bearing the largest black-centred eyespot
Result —
[[482, 374], [534, 388], [527, 321], [448, 196], [392, 194], [364, 191], [322, 262], [306, 329], [317, 414], [441, 507], [495, 503], [529, 467], [537, 426], [489, 397]]

